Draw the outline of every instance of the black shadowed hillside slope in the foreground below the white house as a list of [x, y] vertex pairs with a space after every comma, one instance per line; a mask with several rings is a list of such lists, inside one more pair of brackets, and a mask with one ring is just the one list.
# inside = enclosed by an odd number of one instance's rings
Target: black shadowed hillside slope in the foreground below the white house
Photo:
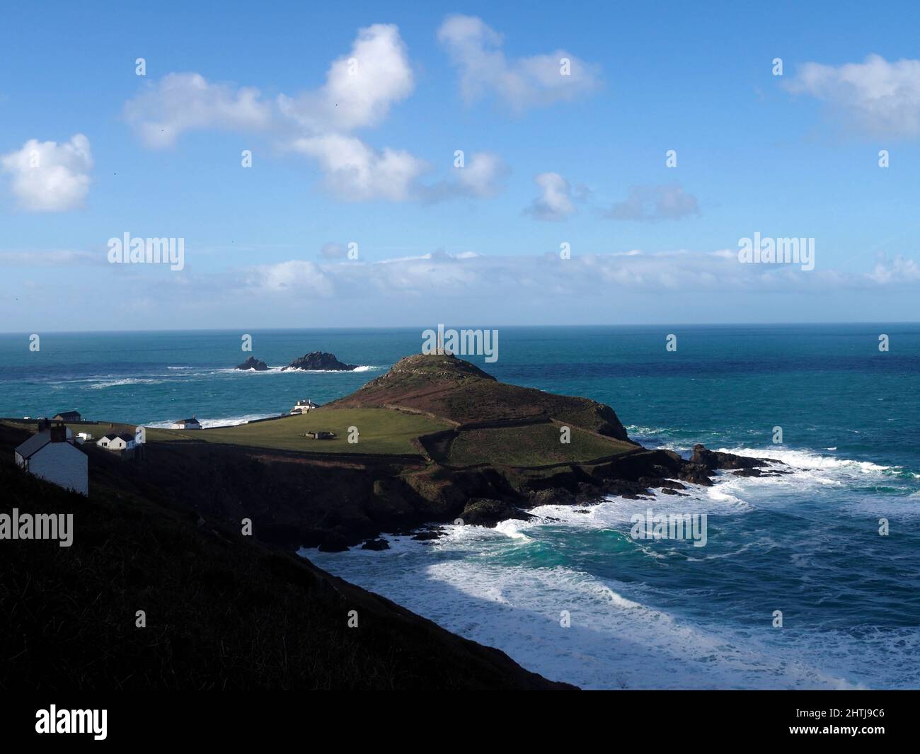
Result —
[[0, 427], [0, 512], [73, 513], [75, 534], [0, 541], [0, 689], [560, 688], [216, 519], [36, 480], [22, 439]]

